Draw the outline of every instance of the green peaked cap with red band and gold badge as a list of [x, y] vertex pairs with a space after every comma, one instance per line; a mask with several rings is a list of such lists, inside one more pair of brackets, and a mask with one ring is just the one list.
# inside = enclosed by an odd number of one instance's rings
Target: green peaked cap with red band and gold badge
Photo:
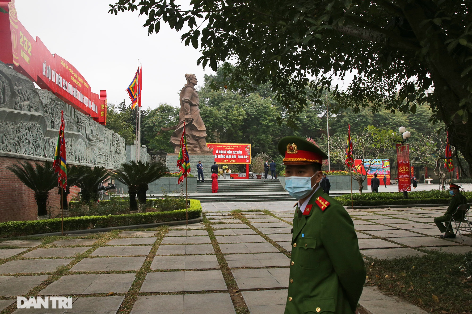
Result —
[[322, 164], [328, 156], [312, 142], [298, 136], [286, 136], [278, 142], [278, 151], [285, 156], [284, 165]]

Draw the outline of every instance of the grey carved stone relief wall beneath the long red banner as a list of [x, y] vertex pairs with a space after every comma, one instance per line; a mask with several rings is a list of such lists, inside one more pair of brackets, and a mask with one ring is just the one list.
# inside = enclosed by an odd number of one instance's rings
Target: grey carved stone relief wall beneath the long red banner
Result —
[[0, 62], [0, 152], [54, 158], [61, 110], [67, 162], [110, 168], [126, 162], [124, 138]]

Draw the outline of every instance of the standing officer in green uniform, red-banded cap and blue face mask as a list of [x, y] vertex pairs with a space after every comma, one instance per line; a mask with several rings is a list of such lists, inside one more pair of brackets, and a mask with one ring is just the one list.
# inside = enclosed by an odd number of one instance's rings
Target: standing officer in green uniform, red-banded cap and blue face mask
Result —
[[356, 313], [366, 272], [351, 217], [319, 189], [328, 156], [296, 136], [280, 140], [278, 151], [285, 188], [298, 199], [285, 314]]

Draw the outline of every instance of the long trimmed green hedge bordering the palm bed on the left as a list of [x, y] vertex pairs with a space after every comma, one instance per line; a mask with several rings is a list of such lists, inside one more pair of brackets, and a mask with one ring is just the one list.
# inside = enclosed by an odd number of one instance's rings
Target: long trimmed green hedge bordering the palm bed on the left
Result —
[[[200, 201], [191, 199], [190, 207], [188, 208], [188, 219], [198, 218], [201, 214], [202, 205], [200, 205]], [[176, 220], [185, 220], [185, 208], [167, 212], [66, 217], [64, 218], [64, 231], [162, 223]], [[60, 231], [60, 218], [0, 223], [0, 238]]]

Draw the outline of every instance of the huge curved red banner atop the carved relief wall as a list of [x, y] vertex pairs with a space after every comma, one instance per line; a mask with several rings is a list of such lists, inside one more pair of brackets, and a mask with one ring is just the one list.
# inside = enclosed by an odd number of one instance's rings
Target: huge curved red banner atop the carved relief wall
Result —
[[8, 14], [0, 14], [0, 60], [80, 112], [106, 124], [106, 91], [101, 91], [101, 95], [93, 93], [74, 66], [57, 54], [52, 55], [39, 37], [34, 39], [18, 20], [14, 1], [0, 0], [0, 7], [8, 10]]

